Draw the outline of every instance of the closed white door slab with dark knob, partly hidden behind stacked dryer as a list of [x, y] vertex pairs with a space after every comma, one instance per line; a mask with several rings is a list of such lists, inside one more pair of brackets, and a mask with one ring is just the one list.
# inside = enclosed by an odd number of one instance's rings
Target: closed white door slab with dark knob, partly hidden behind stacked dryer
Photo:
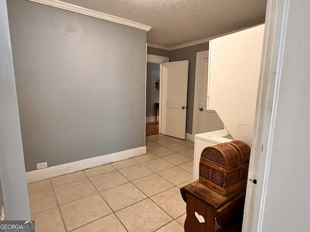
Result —
[[[200, 101], [198, 113], [198, 133], [217, 131], [223, 128], [223, 122], [213, 110], [207, 110], [209, 58], [202, 59], [200, 79]], [[198, 109], [195, 109], [198, 110]]]

